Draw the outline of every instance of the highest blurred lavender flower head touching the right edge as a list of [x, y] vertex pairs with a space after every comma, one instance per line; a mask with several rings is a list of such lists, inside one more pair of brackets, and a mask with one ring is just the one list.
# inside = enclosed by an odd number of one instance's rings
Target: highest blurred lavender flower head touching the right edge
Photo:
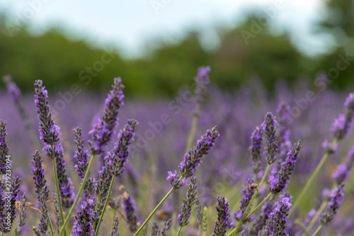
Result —
[[343, 139], [348, 134], [350, 128], [353, 125], [353, 116], [354, 116], [354, 94], [349, 94], [346, 99], [346, 113], [340, 114], [332, 124], [332, 132], [334, 137], [338, 140]]

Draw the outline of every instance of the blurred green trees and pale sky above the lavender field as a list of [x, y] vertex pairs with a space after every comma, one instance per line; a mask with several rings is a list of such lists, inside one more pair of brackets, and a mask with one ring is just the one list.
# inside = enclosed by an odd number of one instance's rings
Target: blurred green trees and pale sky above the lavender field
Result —
[[353, 11], [353, 0], [1, 0], [0, 72], [24, 92], [35, 79], [100, 92], [122, 77], [144, 99], [175, 95], [202, 65], [222, 89], [252, 78], [270, 94], [280, 79], [316, 88], [324, 72], [350, 90]]

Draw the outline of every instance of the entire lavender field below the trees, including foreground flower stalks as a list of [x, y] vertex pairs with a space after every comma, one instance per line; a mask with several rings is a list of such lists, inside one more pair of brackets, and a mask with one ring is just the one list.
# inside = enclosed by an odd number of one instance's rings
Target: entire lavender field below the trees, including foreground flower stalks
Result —
[[209, 72], [147, 101], [4, 77], [1, 235], [353, 235], [354, 95]]

